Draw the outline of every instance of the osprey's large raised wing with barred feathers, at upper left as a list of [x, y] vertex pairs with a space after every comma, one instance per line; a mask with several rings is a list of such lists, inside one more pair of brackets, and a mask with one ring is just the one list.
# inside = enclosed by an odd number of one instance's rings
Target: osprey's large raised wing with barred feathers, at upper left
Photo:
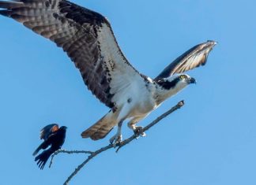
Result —
[[99, 13], [65, 0], [0, 1], [0, 14], [51, 39], [68, 54], [88, 89], [113, 107], [130, 83], [144, 80], [122, 54], [111, 25]]

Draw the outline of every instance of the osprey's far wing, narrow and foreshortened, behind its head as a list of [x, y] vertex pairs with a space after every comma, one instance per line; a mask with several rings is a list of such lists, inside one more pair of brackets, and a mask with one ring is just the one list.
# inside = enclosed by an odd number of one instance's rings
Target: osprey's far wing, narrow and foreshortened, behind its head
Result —
[[192, 47], [164, 68], [164, 71], [160, 72], [156, 79], [167, 78], [175, 73], [186, 72], [190, 69], [205, 65], [208, 54], [213, 50], [213, 46], [215, 45], [216, 42], [207, 41], [206, 43], [201, 43]]

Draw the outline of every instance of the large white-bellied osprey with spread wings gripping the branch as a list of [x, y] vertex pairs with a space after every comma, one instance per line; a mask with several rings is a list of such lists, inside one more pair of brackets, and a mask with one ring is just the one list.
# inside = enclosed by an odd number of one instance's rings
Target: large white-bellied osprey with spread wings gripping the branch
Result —
[[115, 125], [111, 143], [122, 140], [122, 122], [137, 135], [145, 135], [137, 122], [164, 100], [181, 91], [194, 78], [183, 74], [205, 65], [214, 41], [192, 47], [152, 79], [130, 65], [119, 48], [111, 24], [100, 13], [66, 0], [0, 1], [0, 14], [11, 17], [27, 28], [62, 47], [88, 89], [110, 108], [96, 124], [83, 131], [83, 138], [103, 139]]

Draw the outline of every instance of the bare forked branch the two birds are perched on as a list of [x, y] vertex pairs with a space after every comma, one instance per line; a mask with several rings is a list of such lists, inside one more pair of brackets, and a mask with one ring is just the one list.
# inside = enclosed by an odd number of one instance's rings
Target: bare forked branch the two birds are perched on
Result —
[[[152, 128], [152, 126], [154, 126], [155, 124], [157, 124], [160, 120], [164, 119], [165, 117], [168, 117], [169, 114], [175, 112], [175, 110], [180, 109], [182, 106], [184, 105], [184, 101], [180, 101], [177, 105], [173, 106], [171, 109], [169, 109], [166, 113], [162, 114], [160, 117], [157, 117], [156, 120], [153, 120], [152, 123], [148, 124], [145, 128], [143, 128], [143, 132], [149, 130], [149, 128]], [[111, 148], [115, 148], [118, 147], [116, 152], [118, 152], [123, 146], [126, 146], [128, 143], [130, 143], [131, 141], [133, 141], [134, 139], [137, 139], [138, 135], [134, 134], [131, 135], [130, 138], [123, 140], [122, 142], [114, 145], [114, 144], [109, 144], [107, 146], [104, 146], [102, 148], [100, 148], [99, 150], [96, 150], [94, 152], [92, 151], [84, 151], [84, 150], [73, 150], [73, 151], [69, 151], [69, 150], [58, 150], [55, 152], [55, 154], [52, 155], [51, 157], [51, 164], [50, 167], [52, 165], [52, 161], [53, 158], [60, 153], [66, 153], [66, 154], [89, 154], [87, 159], [85, 161], [83, 161], [81, 163], [81, 165], [78, 165], [77, 168], [70, 174], [70, 176], [66, 179], [64, 185], [67, 185], [68, 183], [70, 183], [70, 180], [73, 179], [74, 176], [77, 175], [77, 172], [79, 172], [81, 170], [81, 168], [83, 168], [88, 161], [90, 161], [93, 157], [96, 157], [98, 154], [109, 150]]]

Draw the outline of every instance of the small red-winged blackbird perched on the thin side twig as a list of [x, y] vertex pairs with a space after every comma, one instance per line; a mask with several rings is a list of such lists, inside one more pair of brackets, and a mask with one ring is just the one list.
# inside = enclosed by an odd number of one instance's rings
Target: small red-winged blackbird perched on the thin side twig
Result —
[[[65, 138], [66, 127], [62, 126], [61, 128], [58, 128], [58, 124], [49, 124], [40, 131], [40, 139], [43, 139], [44, 141], [33, 153], [33, 156], [35, 156], [41, 149], [44, 150], [35, 158], [40, 169], [43, 169], [51, 154], [54, 154], [56, 150], [61, 149], [65, 142]], [[51, 147], [47, 149], [48, 146]]]

